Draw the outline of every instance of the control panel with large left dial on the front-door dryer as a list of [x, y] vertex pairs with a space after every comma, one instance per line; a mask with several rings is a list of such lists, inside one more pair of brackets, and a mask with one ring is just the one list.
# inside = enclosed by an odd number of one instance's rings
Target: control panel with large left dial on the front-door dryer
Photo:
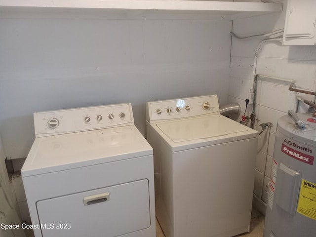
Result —
[[130, 103], [34, 113], [36, 137], [134, 124]]

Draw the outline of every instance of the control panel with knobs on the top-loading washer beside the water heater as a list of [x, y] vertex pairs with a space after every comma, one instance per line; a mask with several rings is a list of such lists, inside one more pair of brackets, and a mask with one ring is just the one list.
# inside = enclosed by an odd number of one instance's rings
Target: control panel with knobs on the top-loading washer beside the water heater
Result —
[[147, 121], [219, 114], [217, 95], [147, 102]]

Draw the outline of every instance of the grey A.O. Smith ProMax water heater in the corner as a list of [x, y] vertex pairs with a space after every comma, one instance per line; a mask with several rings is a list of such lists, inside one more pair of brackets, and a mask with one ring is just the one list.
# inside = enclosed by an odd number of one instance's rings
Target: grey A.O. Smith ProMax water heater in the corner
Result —
[[316, 123], [278, 119], [264, 237], [316, 237]]

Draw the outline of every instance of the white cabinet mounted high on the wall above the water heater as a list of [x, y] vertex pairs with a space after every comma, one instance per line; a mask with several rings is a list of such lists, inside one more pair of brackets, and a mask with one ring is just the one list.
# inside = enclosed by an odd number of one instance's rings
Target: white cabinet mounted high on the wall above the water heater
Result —
[[316, 0], [288, 0], [284, 45], [316, 45]]

